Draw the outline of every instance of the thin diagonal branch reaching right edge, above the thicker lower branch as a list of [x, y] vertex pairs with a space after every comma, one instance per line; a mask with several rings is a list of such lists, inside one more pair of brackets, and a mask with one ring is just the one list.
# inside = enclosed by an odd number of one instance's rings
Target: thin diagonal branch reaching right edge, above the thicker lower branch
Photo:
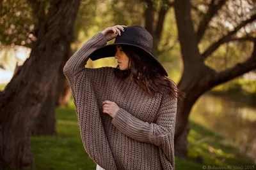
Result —
[[207, 59], [207, 57], [209, 55], [211, 55], [213, 52], [215, 52], [215, 50], [217, 50], [217, 48], [219, 48], [220, 45], [222, 45], [223, 43], [226, 43], [228, 41], [230, 41], [230, 39], [232, 39], [232, 36], [234, 34], [236, 34], [237, 31], [239, 31], [242, 27], [244, 27], [246, 24], [253, 22], [253, 20], [256, 19], [256, 14], [252, 15], [252, 17], [250, 17], [250, 19], [248, 20], [244, 20], [243, 22], [241, 22], [241, 24], [237, 25], [237, 27], [235, 27], [235, 29], [231, 32], [228, 32], [227, 35], [223, 36], [222, 38], [220, 38], [218, 41], [216, 41], [215, 43], [213, 43], [211, 46], [209, 46], [207, 48], [207, 50], [205, 50], [204, 53], [202, 53], [202, 58], [203, 60]]

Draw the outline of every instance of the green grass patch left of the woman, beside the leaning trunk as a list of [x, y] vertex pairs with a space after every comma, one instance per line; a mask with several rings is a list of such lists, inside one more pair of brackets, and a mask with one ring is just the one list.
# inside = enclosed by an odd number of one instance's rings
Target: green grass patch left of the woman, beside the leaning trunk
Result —
[[84, 151], [76, 112], [56, 109], [58, 136], [33, 136], [31, 147], [35, 156], [35, 169], [96, 169]]

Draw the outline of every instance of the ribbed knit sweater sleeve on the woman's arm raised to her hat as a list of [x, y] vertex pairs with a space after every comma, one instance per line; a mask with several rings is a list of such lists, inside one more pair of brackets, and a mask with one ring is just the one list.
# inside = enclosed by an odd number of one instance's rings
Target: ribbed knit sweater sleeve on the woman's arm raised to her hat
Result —
[[72, 80], [80, 71], [83, 71], [89, 56], [102, 46], [107, 44], [107, 40], [102, 32], [97, 32], [91, 39], [86, 41], [83, 46], [77, 50], [66, 62], [63, 67], [63, 73], [68, 80]]

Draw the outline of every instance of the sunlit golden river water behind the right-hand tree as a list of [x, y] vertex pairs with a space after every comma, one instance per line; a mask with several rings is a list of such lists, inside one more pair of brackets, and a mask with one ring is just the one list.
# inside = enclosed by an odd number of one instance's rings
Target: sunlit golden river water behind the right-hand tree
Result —
[[189, 118], [219, 132], [256, 160], [256, 106], [204, 94]]

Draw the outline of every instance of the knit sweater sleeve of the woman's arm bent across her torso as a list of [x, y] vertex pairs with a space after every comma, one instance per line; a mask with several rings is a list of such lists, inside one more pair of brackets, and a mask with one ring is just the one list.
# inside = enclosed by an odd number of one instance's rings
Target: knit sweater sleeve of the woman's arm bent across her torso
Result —
[[159, 146], [163, 149], [167, 159], [173, 162], [176, 113], [177, 97], [171, 99], [164, 95], [157, 113], [156, 123], [143, 122], [120, 108], [113, 118], [112, 124], [132, 139]]

